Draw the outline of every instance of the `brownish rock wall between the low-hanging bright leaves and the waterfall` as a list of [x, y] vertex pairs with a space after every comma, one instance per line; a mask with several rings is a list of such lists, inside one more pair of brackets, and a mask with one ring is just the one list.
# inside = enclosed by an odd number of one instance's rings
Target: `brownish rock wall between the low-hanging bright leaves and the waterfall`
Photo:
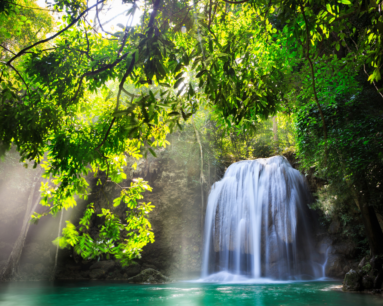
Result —
[[126, 171], [128, 179], [144, 177], [153, 188], [142, 202], [155, 205], [149, 214], [155, 241], [143, 248], [137, 262], [141, 269], [159, 269], [169, 277], [196, 278], [202, 262], [201, 189], [192, 181], [190, 169], [157, 156], [141, 159], [135, 171]]

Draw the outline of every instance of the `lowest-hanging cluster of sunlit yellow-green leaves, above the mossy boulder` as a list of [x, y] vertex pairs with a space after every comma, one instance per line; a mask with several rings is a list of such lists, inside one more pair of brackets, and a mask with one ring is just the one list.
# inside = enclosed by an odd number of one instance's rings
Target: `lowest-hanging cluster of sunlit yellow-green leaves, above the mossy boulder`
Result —
[[134, 258], [141, 258], [142, 247], [154, 241], [151, 224], [147, 219], [147, 214], [154, 205], [151, 205], [151, 202], [137, 202], [143, 198], [141, 193], [146, 189], [152, 191], [147, 182], [140, 178], [132, 182], [130, 187], [122, 187], [121, 196], [113, 200], [113, 207], [117, 207], [121, 202], [126, 204], [127, 224], [121, 223], [113, 210], [102, 208], [97, 216], [103, 217], [105, 221], [99, 226], [97, 239], [92, 239], [89, 229], [95, 210], [93, 203], [90, 203], [80, 219], [79, 229], [77, 230], [70, 221], [66, 221], [63, 236], [56, 238], [53, 243], [59, 243], [60, 247], [70, 245], [85, 259], [99, 258], [102, 254], [106, 254], [106, 258], [109, 259], [110, 254], [113, 254], [122, 265], [126, 265]]

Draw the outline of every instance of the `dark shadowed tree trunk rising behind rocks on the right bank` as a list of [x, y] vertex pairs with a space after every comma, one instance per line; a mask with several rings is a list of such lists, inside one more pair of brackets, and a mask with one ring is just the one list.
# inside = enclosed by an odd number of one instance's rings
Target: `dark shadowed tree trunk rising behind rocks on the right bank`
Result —
[[365, 233], [370, 244], [371, 260], [370, 264], [374, 270], [376, 270], [376, 277], [374, 280], [374, 288], [380, 289], [383, 282], [383, 232], [380, 227], [378, 218], [376, 217], [375, 210], [370, 205], [370, 194], [368, 191], [367, 182], [363, 182], [362, 188], [357, 188], [356, 192], [359, 192], [358, 204], [360, 213], [362, 215], [362, 221], [365, 229]]

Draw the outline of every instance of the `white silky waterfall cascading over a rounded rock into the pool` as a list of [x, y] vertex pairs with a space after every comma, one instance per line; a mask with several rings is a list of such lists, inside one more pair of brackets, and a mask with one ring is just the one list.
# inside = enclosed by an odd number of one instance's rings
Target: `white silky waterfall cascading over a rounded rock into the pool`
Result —
[[309, 239], [307, 203], [304, 176], [284, 156], [231, 164], [209, 195], [202, 276], [323, 277]]

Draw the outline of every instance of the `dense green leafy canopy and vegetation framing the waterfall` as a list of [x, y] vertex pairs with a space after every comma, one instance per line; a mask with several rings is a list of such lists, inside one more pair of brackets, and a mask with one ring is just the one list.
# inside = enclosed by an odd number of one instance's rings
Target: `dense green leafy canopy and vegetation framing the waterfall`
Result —
[[[363, 221], [380, 288], [382, 4], [124, 0], [125, 24], [108, 30], [104, 11], [118, 5], [0, 4], [0, 155], [14, 145], [26, 167], [43, 166], [41, 203], [49, 212], [75, 205], [75, 194], [86, 198], [90, 172], [105, 172], [100, 194], [106, 181], [118, 185], [127, 155], [155, 156], [173, 144], [169, 137], [194, 132], [202, 194], [204, 171], [218, 161], [296, 151], [302, 171], [328, 182], [317, 207], [328, 211], [325, 198], [338, 194], [330, 200], [334, 215], [345, 226]], [[272, 116], [278, 141], [271, 140]], [[82, 227], [68, 223], [61, 243], [87, 258], [106, 253], [128, 263], [139, 256], [153, 240], [152, 205], [137, 202], [144, 189], [142, 181], [121, 187], [111, 203], [126, 205], [128, 225], [111, 205], [102, 239], [92, 241], [89, 205]], [[14, 277], [15, 262], [11, 256], [3, 279]]]

